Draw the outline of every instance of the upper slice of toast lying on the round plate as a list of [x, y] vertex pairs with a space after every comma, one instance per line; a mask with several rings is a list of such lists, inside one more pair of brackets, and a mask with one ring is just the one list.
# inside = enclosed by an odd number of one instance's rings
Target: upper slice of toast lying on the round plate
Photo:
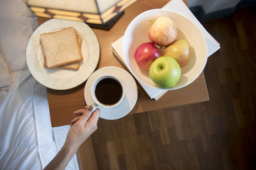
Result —
[[83, 60], [74, 27], [40, 34], [45, 53], [45, 66], [49, 69]]

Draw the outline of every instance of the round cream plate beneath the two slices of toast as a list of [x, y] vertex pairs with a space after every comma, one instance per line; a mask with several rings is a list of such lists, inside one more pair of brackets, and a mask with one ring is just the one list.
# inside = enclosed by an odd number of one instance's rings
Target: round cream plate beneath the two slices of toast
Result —
[[[81, 52], [83, 61], [78, 70], [44, 67], [44, 50], [40, 34], [74, 27], [83, 38]], [[99, 62], [99, 42], [92, 29], [84, 22], [51, 19], [40, 25], [31, 35], [26, 48], [26, 62], [32, 76], [45, 87], [67, 90], [80, 85], [93, 73]]]

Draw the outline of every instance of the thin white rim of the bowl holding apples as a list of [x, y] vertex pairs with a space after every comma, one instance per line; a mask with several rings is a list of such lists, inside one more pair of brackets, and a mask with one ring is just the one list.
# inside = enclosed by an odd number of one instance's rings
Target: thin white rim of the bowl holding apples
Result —
[[[172, 10], [164, 10], [164, 9], [152, 9], [152, 10], [147, 10], [147, 11], [144, 11], [142, 13], [140, 13], [139, 15], [137, 15], [131, 22], [130, 24], [128, 25], [128, 27], [126, 28], [125, 30], [125, 33], [124, 33], [124, 40], [125, 40], [125, 37], [127, 37], [127, 31], [129, 30], [129, 28], [131, 27], [132, 23], [135, 22], [135, 20], [138, 19], [138, 17], [140, 17], [141, 15], [145, 15], [147, 13], [150, 13], [152, 11], [166, 11], [166, 12], [170, 12], [170, 13], [175, 13], [176, 15], [180, 15], [181, 17], [184, 17], [186, 20], [188, 20], [188, 22], [191, 22], [191, 24], [195, 25], [191, 20], [189, 20], [188, 17], [180, 14], [180, 13], [177, 13], [176, 11], [172, 11]], [[200, 29], [198, 29], [198, 27], [195, 25], [196, 29], [198, 30], [198, 32], [200, 32], [199, 34], [203, 37], [203, 41], [204, 41], [204, 45], [205, 45], [205, 64], [204, 64], [204, 67], [202, 67], [202, 70], [200, 71], [200, 74], [202, 74], [202, 72], [204, 71], [204, 68], [206, 66], [206, 63], [207, 63], [207, 60], [208, 60], [208, 57], [207, 57], [207, 52], [208, 52], [208, 48], [207, 48], [207, 43], [206, 43], [206, 40], [205, 40], [205, 36], [204, 34], [202, 33], [202, 31], [200, 31]], [[123, 45], [122, 45], [122, 51], [123, 51], [123, 54], [124, 54], [124, 60], [125, 60], [125, 63], [127, 63], [127, 60], [126, 60], [126, 57], [125, 57], [125, 52], [124, 52], [124, 46], [125, 46], [125, 41], [123, 40]], [[181, 89], [183, 87], [186, 87], [188, 86], [189, 84], [193, 83], [193, 81], [195, 81], [198, 76], [200, 76], [200, 74], [198, 74], [197, 76], [195, 76], [195, 78], [193, 80], [191, 80], [189, 83], [186, 83], [186, 85], [184, 86], [181, 86], [181, 87], [176, 87], [176, 88], [173, 88], [173, 87], [170, 87], [170, 88], [160, 88], [160, 87], [156, 87], [156, 86], [152, 86], [148, 83], [145, 83], [144, 81], [142, 81], [140, 78], [138, 78], [138, 76], [136, 74], [134, 74], [134, 71], [132, 71], [131, 67], [128, 66], [128, 64], [125, 64], [127, 66], [127, 68], [129, 69], [129, 71], [132, 73], [132, 75], [140, 82], [142, 82], [143, 84], [147, 85], [148, 87], [152, 87], [154, 89], [161, 89], [161, 90], [177, 90], [177, 89]]]

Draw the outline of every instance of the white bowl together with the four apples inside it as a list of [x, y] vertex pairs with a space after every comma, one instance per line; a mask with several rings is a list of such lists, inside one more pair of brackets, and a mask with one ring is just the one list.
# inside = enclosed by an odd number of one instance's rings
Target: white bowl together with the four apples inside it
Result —
[[207, 62], [206, 41], [198, 27], [183, 15], [162, 9], [145, 11], [132, 20], [123, 52], [129, 71], [156, 89], [186, 87]]

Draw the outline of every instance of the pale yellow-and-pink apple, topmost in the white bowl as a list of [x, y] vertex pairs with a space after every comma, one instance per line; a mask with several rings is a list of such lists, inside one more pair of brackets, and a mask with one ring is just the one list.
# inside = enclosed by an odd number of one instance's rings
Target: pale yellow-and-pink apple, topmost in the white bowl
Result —
[[159, 46], [170, 45], [177, 38], [177, 27], [168, 17], [158, 17], [148, 29], [148, 38]]

